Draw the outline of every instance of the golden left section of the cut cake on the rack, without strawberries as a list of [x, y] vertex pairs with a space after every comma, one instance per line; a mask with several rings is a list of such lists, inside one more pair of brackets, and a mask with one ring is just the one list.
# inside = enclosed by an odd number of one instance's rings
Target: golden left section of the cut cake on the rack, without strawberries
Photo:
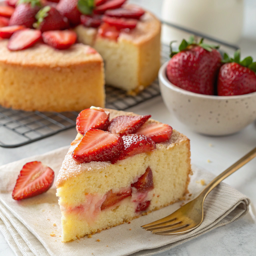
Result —
[[0, 104], [26, 111], [80, 111], [104, 107], [102, 57], [90, 46], [56, 50], [46, 44], [21, 51], [0, 41]]

